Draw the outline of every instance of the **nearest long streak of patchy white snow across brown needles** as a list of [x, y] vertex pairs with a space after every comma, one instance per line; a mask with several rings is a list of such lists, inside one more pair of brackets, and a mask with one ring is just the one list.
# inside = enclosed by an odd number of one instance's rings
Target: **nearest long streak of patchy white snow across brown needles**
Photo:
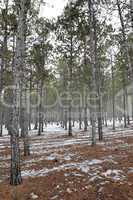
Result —
[[[103, 162], [106, 162], [109, 158], [106, 159], [92, 159], [92, 160], [85, 160], [83, 162], [72, 162], [67, 163], [63, 165], [59, 165], [57, 167], [53, 167], [51, 169], [43, 168], [41, 170], [25, 170], [22, 171], [23, 177], [41, 177], [41, 176], [47, 176], [54, 172], [60, 172], [65, 170], [78, 170], [80, 173], [64, 173], [64, 176], [83, 176], [83, 174], [86, 174], [89, 178], [90, 182], [100, 180], [103, 182], [105, 178], [112, 179], [114, 181], [123, 181], [126, 179], [126, 176], [124, 175], [124, 172], [122, 170], [111, 170], [108, 169], [106, 172], [102, 172], [102, 166], [101, 164]], [[83, 173], [83, 174], [82, 174]], [[104, 184], [104, 182], [102, 183]]]

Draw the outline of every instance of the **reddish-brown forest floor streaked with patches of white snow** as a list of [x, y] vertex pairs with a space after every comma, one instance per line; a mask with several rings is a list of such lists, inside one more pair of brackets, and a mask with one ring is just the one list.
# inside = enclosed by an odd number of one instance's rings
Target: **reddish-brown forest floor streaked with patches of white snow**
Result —
[[23, 184], [9, 184], [10, 140], [0, 138], [0, 200], [133, 200], [133, 130], [105, 134], [91, 147], [88, 132], [30, 135]]

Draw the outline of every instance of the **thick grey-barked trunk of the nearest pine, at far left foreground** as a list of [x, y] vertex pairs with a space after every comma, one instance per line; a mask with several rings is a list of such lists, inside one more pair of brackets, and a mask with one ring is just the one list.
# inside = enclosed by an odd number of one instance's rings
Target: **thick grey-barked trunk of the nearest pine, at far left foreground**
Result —
[[21, 184], [20, 169], [20, 149], [19, 149], [19, 109], [18, 102], [20, 98], [19, 89], [21, 81], [20, 70], [24, 65], [25, 56], [25, 17], [30, 6], [30, 0], [15, 1], [18, 11], [18, 24], [16, 36], [16, 50], [13, 70], [14, 90], [13, 90], [13, 119], [11, 129], [11, 176], [12, 185]]

